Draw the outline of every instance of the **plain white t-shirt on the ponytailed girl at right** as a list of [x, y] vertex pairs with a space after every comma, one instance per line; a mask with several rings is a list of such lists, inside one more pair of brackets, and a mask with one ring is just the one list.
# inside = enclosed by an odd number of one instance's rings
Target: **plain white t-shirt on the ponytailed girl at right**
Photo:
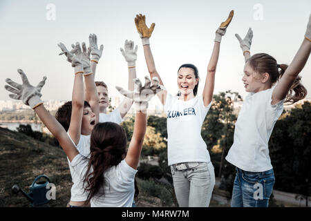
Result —
[[276, 120], [283, 112], [283, 102], [272, 105], [273, 89], [249, 93], [243, 102], [236, 127], [234, 144], [226, 160], [244, 171], [272, 169], [268, 142]]

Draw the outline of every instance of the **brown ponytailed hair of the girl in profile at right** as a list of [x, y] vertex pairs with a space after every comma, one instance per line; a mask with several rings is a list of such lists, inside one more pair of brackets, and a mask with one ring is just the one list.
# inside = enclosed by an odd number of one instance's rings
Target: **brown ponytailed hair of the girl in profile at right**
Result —
[[[249, 57], [247, 59], [249, 66], [251, 66], [256, 73], [263, 74], [268, 73], [270, 76], [270, 81], [272, 86], [279, 81], [283, 74], [285, 73], [288, 65], [286, 64], [277, 64], [276, 59], [271, 55], [267, 55], [265, 53], [258, 53]], [[280, 70], [279, 70], [280, 69]], [[285, 103], [294, 104], [298, 102], [300, 99], [305, 98], [307, 95], [307, 89], [300, 82], [301, 76], [297, 76], [294, 80], [290, 90], [288, 91], [288, 95], [286, 95]], [[294, 91], [294, 95], [292, 94]]]

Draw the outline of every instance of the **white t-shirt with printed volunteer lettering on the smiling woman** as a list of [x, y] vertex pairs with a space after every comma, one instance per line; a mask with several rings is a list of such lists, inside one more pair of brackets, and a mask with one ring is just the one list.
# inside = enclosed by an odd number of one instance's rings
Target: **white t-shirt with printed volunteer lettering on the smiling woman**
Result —
[[204, 106], [202, 95], [182, 101], [167, 93], [167, 155], [169, 166], [181, 162], [209, 162], [207, 145], [201, 137], [205, 116], [211, 107]]

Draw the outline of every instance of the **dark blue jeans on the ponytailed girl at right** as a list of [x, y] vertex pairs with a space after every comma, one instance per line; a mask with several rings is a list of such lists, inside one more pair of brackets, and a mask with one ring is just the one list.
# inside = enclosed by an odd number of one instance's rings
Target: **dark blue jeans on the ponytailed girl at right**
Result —
[[236, 168], [232, 207], [267, 207], [274, 185], [273, 169], [248, 172]]

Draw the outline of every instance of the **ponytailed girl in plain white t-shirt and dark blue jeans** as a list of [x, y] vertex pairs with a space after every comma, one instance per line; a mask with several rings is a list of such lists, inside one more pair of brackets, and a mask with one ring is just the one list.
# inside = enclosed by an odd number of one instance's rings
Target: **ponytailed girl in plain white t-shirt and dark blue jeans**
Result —
[[[270, 135], [283, 112], [283, 103], [293, 104], [307, 95], [298, 75], [311, 51], [311, 15], [305, 39], [290, 66], [277, 64], [276, 59], [265, 53], [250, 57], [250, 28], [245, 39], [236, 37], [245, 56], [242, 81], [249, 94], [238, 113], [234, 144], [226, 157], [236, 166], [232, 206], [267, 207], [275, 180], [268, 149]], [[279, 83], [272, 88], [276, 81]]]

